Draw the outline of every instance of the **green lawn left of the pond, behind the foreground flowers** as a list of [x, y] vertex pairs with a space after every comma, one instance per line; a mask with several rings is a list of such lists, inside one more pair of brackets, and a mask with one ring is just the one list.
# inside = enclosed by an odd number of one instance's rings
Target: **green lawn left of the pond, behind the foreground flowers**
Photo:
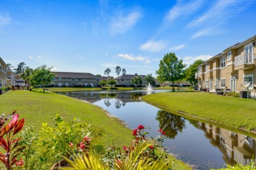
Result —
[[[6, 115], [17, 109], [20, 118], [25, 118], [25, 125], [33, 126], [39, 134], [42, 122], [48, 122], [49, 126], [53, 127], [55, 123], [53, 118], [59, 113], [66, 122], [76, 117], [81, 122], [101, 126], [104, 129], [103, 136], [93, 143], [127, 146], [132, 140], [131, 129], [124, 127], [117, 118], [108, 116], [106, 110], [65, 95], [26, 90], [7, 92], [0, 95], [0, 108], [0, 114]], [[170, 159], [174, 162], [175, 169], [190, 169], [182, 161]]]

